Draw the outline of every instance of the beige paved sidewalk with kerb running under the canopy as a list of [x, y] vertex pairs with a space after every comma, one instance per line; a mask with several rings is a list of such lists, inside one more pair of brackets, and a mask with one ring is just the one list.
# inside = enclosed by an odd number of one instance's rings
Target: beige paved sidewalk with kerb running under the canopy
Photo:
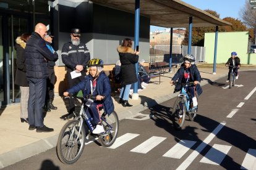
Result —
[[[198, 67], [198, 69], [203, 79], [201, 86], [228, 74], [227, 68], [217, 68], [216, 75], [212, 75], [212, 68]], [[242, 70], [256, 70], [256, 67], [241, 68], [239, 71]], [[174, 71], [176, 72], [177, 68]], [[176, 97], [177, 94], [173, 94], [174, 86], [169, 84], [173, 76], [174, 73], [164, 74], [161, 76], [161, 84], [159, 84], [158, 78], [152, 79], [153, 82], [139, 92], [139, 100], [129, 99], [129, 103], [134, 105], [133, 107], [124, 108], [117, 103], [119, 97], [117, 95], [113, 97], [115, 111], [119, 119], [135, 115], [157, 103]], [[67, 121], [60, 117], [65, 115], [67, 110], [61, 97], [55, 97], [54, 105], [58, 107], [58, 110], [52, 110], [45, 117], [46, 126], [54, 128], [54, 132], [48, 133], [28, 131], [28, 124], [20, 123], [20, 103], [0, 109], [0, 169], [56, 147], [59, 132]]]

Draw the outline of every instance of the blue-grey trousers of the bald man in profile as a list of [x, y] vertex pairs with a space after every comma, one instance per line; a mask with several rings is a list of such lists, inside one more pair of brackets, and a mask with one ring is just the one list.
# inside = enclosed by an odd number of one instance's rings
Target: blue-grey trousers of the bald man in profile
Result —
[[28, 123], [43, 126], [43, 105], [45, 104], [46, 79], [28, 78]]

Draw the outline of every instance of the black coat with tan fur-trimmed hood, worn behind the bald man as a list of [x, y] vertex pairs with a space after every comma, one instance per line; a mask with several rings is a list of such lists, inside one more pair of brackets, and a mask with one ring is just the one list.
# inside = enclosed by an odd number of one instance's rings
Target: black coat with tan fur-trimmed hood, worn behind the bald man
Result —
[[16, 65], [17, 70], [15, 73], [15, 81], [14, 84], [22, 87], [28, 87], [28, 81], [26, 76], [26, 65], [25, 65], [25, 46], [26, 42], [20, 39], [20, 36], [15, 40], [15, 50], [17, 55]]

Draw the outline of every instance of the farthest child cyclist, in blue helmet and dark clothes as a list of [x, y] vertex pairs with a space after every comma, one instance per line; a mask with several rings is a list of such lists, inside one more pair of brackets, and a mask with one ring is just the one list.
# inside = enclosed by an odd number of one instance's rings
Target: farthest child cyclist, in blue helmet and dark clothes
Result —
[[231, 57], [228, 59], [228, 62], [226, 62], [225, 64], [226, 67], [229, 67], [229, 71], [228, 71], [228, 79], [227, 79], [227, 83], [229, 83], [229, 74], [232, 71], [232, 67], [236, 66], [237, 68], [234, 69], [235, 75], [236, 75], [236, 79], [238, 79], [238, 71], [237, 69], [241, 66], [240, 64], [240, 59], [239, 57], [237, 57], [237, 53], [236, 52], [231, 52]]

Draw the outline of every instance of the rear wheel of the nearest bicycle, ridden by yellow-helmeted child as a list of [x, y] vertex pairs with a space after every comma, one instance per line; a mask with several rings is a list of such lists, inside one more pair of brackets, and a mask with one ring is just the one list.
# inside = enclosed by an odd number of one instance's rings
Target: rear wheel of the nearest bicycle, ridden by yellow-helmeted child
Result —
[[116, 111], [113, 111], [110, 115], [101, 116], [102, 125], [104, 126], [105, 132], [100, 135], [99, 142], [103, 147], [110, 147], [116, 140], [119, 120]]

